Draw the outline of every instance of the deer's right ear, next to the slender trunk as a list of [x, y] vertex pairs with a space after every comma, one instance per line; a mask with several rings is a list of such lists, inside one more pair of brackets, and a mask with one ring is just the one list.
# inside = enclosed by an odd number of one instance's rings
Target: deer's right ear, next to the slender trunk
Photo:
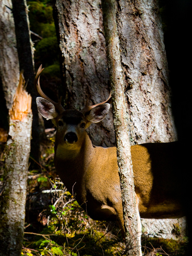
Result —
[[91, 109], [89, 115], [86, 116], [87, 120], [91, 123], [98, 123], [106, 117], [107, 113], [109, 112], [109, 109], [109, 103], [98, 105], [95, 108]]

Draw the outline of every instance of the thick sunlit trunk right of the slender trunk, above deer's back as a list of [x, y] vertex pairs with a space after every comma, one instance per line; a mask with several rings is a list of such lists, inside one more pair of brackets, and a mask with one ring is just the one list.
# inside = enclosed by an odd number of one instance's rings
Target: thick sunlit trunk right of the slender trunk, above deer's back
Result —
[[134, 143], [176, 140], [158, 1], [118, 2], [118, 33]]

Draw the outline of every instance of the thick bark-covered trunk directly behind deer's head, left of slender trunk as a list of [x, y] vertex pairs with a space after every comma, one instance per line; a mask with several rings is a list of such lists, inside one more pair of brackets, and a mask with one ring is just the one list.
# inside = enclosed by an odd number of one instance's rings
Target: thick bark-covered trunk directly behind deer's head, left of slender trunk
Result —
[[[66, 108], [81, 109], [109, 96], [109, 73], [100, 1], [54, 1], [54, 19], [61, 52]], [[92, 102], [91, 102], [92, 101]], [[112, 111], [89, 135], [94, 145], [115, 145]]]

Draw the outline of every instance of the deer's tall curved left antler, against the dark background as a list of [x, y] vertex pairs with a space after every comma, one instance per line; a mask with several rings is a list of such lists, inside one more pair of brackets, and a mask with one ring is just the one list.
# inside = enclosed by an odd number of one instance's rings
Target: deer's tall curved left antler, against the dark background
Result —
[[48, 100], [50, 101], [54, 106], [55, 108], [59, 111], [59, 113], [62, 113], [65, 109], [61, 106], [61, 97], [60, 97], [60, 100], [59, 102], [54, 102], [53, 100], [51, 100], [49, 97], [47, 97], [45, 95], [45, 93], [41, 90], [41, 87], [40, 87], [40, 74], [41, 72], [43, 71], [44, 68], [42, 68], [42, 64], [40, 65], [40, 67], [38, 68], [37, 70], [37, 74], [35, 76], [35, 79], [34, 79], [34, 86], [35, 86], [35, 89], [37, 90], [37, 92], [39, 93], [39, 95], [44, 98], [45, 100]]

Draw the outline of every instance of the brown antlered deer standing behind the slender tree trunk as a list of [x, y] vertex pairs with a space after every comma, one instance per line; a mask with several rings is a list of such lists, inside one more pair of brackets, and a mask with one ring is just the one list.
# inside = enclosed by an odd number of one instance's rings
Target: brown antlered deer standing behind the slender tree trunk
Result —
[[[68, 191], [93, 220], [118, 220], [124, 236], [124, 219], [116, 147], [94, 146], [86, 129], [102, 121], [110, 109], [111, 94], [101, 103], [79, 110], [67, 109], [42, 92], [39, 67], [34, 85], [39, 113], [56, 126], [54, 165]], [[182, 206], [178, 142], [145, 143], [131, 146], [137, 204], [140, 218], [179, 218]], [[179, 169], [179, 170], [178, 170]], [[139, 249], [142, 255], [141, 244]]]

